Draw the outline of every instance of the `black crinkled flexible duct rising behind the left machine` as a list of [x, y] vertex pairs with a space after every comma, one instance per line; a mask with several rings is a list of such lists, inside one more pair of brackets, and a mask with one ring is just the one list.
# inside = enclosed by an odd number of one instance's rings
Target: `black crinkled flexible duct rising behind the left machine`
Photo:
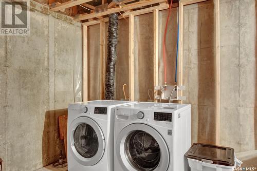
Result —
[[109, 14], [104, 92], [105, 100], [114, 100], [115, 65], [117, 59], [116, 45], [118, 43], [118, 19], [118, 14]]

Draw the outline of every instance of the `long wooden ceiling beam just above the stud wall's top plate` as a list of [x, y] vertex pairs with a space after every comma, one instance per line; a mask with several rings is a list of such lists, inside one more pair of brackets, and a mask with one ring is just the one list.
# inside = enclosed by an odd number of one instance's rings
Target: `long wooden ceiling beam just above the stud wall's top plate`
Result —
[[140, 1], [140, 2], [136, 2], [136, 3], [124, 5], [122, 8], [111, 8], [111, 9], [108, 9], [107, 11], [100, 12], [100, 13], [94, 12], [94, 13], [90, 13], [90, 14], [80, 14], [78, 17], [74, 18], [74, 20], [75, 21], [87, 20], [89, 18], [94, 18], [94, 17], [98, 17], [98, 16], [116, 13], [116, 12], [126, 11], [126, 10], [130, 10], [133, 8], [143, 7], [143, 6], [157, 4], [157, 3], [161, 3], [161, 2], [164, 2], [164, 0]]

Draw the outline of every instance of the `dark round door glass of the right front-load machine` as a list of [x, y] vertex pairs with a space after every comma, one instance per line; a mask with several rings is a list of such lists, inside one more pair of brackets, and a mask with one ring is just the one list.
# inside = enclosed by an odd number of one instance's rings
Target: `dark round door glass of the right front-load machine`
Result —
[[138, 170], [154, 170], [160, 162], [157, 141], [147, 132], [135, 130], [125, 140], [128, 161]]

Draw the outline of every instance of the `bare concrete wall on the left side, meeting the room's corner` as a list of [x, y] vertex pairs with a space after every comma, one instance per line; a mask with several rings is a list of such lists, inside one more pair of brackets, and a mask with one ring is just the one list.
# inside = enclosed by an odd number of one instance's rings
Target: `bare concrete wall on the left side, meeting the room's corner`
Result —
[[0, 36], [0, 157], [4, 171], [58, 160], [58, 116], [81, 101], [81, 23], [30, 4], [30, 35]]

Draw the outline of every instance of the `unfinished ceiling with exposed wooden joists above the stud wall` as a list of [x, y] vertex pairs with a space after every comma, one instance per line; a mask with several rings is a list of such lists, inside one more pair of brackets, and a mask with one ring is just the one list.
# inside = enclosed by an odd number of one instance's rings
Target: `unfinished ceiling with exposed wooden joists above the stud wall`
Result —
[[[101, 20], [108, 14], [118, 13], [119, 17], [127, 17], [136, 10], [151, 10], [151, 8], [168, 9], [171, 2], [166, 0], [35, 0], [49, 6], [53, 12], [62, 13], [74, 18], [75, 21], [88, 22]], [[173, 6], [178, 6], [178, 0], [173, 0]]]

